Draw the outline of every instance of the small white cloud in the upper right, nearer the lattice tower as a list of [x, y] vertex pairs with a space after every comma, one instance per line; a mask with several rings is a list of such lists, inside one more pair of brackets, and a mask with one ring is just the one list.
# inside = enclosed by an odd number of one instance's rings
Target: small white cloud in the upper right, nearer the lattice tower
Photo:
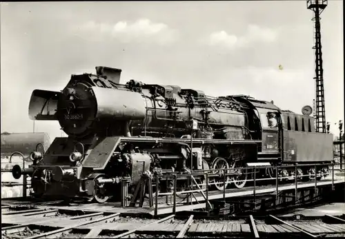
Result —
[[213, 32], [208, 37], [208, 45], [221, 45], [230, 49], [245, 48], [253, 43], [272, 43], [277, 39], [277, 33], [270, 28], [248, 25], [246, 33], [239, 37], [224, 30]]

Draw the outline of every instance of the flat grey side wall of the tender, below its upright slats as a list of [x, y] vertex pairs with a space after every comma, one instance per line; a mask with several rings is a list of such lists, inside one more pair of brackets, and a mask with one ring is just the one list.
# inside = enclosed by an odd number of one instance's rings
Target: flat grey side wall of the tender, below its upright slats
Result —
[[310, 132], [284, 132], [286, 162], [321, 162], [333, 160], [333, 135]]

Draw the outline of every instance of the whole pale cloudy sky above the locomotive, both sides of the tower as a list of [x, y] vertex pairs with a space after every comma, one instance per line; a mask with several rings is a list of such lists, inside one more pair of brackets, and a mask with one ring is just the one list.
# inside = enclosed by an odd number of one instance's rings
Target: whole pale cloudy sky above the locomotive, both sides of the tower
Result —
[[[326, 121], [344, 121], [342, 1], [322, 12]], [[315, 98], [313, 12], [306, 1], [1, 3], [1, 132], [32, 132], [32, 90], [63, 90], [97, 65], [120, 83], [246, 94], [301, 113]], [[283, 70], [279, 70], [282, 65]], [[36, 132], [61, 136], [56, 121]]]

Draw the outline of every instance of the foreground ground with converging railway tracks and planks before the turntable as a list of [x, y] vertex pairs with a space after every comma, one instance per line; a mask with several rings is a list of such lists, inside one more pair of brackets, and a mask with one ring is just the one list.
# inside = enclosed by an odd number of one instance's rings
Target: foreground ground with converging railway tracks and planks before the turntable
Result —
[[[343, 216], [304, 218], [277, 216], [214, 218], [193, 215], [166, 215], [161, 218], [129, 211], [112, 213], [88, 207], [59, 207], [59, 201], [1, 205], [2, 238], [184, 238], [236, 237], [316, 238], [345, 236]], [[279, 235], [280, 236], [280, 235]]]

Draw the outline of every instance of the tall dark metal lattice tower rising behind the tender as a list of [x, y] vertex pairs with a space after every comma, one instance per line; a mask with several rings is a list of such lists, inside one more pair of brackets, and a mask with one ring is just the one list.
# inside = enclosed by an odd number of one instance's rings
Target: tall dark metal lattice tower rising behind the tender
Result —
[[324, 105], [324, 69], [322, 67], [322, 46], [321, 46], [321, 30], [320, 30], [320, 14], [327, 6], [327, 0], [307, 0], [308, 9], [313, 10], [315, 21], [315, 87], [316, 87], [316, 113], [315, 113], [315, 129], [316, 132], [326, 133], [326, 116]]

